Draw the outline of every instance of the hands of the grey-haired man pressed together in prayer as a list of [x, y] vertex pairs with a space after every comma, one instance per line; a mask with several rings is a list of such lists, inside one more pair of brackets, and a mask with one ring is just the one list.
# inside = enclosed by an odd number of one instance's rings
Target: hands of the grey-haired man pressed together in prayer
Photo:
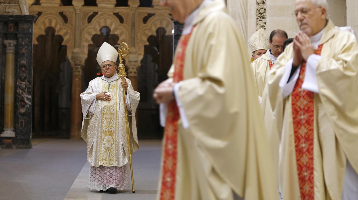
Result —
[[296, 34], [293, 41], [293, 66], [300, 65], [304, 60], [307, 61], [308, 57], [314, 54], [314, 48], [310, 38], [303, 31]]

